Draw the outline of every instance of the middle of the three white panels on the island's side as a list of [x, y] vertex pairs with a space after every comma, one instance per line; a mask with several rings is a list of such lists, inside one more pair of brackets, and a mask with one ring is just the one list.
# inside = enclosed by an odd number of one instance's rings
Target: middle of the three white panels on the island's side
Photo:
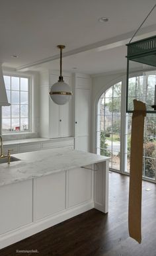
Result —
[[65, 171], [34, 180], [35, 220], [65, 209]]

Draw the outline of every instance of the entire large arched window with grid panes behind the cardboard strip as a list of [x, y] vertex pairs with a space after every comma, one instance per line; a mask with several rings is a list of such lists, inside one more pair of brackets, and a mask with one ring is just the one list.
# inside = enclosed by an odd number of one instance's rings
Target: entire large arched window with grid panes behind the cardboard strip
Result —
[[[148, 72], [131, 77], [129, 109], [133, 109], [134, 98], [145, 102], [148, 109], [151, 108], [155, 84], [156, 73]], [[125, 99], [125, 85], [122, 82], [116, 83], [102, 93], [97, 110], [97, 153], [110, 156], [110, 169], [121, 173], [130, 172], [132, 113], [126, 113]], [[143, 144], [143, 179], [156, 181], [155, 114], [147, 114], [145, 117]]]

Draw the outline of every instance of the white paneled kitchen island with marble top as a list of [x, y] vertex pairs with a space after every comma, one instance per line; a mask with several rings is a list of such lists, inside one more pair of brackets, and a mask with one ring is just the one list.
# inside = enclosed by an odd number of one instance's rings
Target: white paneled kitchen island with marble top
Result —
[[108, 212], [108, 159], [71, 149], [0, 164], [0, 249], [91, 208]]

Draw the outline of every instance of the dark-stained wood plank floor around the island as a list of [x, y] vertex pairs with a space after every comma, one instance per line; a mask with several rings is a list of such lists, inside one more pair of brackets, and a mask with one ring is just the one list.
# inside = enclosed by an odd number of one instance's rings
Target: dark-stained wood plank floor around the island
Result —
[[[109, 213], [89, 210], [0, 250], [0, 256], [156, 256], [156, 185], [143, 181], [142, 243], [128, 235], [129, 177], [110, 173]], [[151, 191], [145, 191], [150, 188]], [[17, 250], [38, 253], [17, 253]]]

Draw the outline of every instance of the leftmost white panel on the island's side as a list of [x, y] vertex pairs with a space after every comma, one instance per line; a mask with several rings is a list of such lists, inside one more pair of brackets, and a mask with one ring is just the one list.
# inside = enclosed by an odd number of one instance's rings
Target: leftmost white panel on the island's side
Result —
[[0, 235], [32, 222], [32, 180], [0, 187]]

